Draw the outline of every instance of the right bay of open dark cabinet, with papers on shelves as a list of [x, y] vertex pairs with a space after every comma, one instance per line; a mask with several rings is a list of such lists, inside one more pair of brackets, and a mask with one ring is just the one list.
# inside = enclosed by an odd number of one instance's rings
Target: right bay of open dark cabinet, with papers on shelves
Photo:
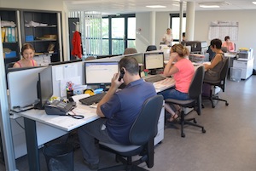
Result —
[[[61, 14], [50, 11], [22, 11], [20, 17], [22, 43], [32, 43], [38, 64], [45, 63], [45, 55], [50, 56], [51, 62], [62, 60]], [[43, 58], [37, 58], [40, 55]]]

